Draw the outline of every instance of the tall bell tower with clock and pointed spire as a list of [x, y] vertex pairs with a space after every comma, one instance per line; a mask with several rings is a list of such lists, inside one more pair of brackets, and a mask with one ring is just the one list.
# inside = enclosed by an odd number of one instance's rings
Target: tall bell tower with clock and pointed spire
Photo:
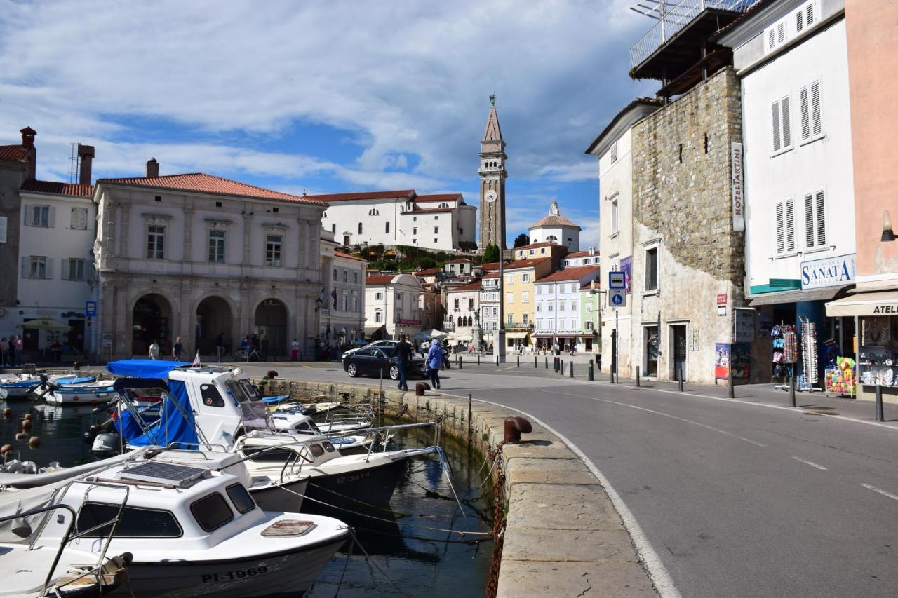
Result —
[[496, 96], [489, 96], [487, 128], [480, 140], [480, 249], [495, 243], [505, 249], [505, 141], [496, 115]]

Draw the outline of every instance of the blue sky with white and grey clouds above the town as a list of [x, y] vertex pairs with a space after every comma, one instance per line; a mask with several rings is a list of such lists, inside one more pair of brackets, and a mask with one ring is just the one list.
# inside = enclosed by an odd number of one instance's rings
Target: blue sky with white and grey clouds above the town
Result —
[[633, 0], [0, 0], [0, 145], [38, 131], [38, 178], [203, 171], [301, 195], [461, 192], [479, 204], [495, 93], [509, 244], [558, 201], [598, 245], [586, 147], [630, 100]]

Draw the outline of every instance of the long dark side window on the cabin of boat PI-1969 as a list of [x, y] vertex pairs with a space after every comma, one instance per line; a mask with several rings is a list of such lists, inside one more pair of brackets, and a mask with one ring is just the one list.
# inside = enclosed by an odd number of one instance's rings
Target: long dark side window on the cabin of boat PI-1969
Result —
[[[88, 538], [104, 538], [112, 529], [111, 520], [118, 514], [119, 505], [87, 502], [78, 512], [76, 527], [81, 532], [86, 532], [103, 523], [109, 523], [86, 534]], [[115, 531], [116, 538], [179, 538], [180, 535], [180, 525], [173, 514], [168, 511], [138, 509], [132, 506], [126, 506], [122, 511], [121, 521]]]

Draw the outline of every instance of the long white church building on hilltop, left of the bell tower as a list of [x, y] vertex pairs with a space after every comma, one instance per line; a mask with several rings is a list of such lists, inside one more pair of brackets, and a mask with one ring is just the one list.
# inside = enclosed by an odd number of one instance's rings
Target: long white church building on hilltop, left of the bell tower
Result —
[[344, 246], [414, 245], [470, 251], [477, 208], [461, 193], [418, 195], [411, 189], [305, 196], [330, 204], [321, 226]]

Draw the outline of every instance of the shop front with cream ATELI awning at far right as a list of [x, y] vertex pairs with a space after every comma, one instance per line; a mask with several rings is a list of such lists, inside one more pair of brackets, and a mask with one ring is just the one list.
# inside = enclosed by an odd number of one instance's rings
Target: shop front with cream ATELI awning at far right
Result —
[[898, 402], [898, 291], [857, 293], [826, 303], [826, 313], [854, 320], [858, 330], [857, 397]]

